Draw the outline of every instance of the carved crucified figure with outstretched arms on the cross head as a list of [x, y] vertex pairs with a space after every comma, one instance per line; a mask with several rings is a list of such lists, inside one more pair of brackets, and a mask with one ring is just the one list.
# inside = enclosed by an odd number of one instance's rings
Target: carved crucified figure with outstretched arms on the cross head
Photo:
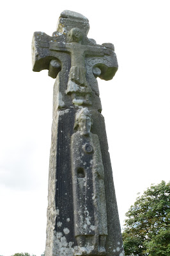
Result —
[[[86, 64], [85, 57], [112, 55], [112, 48], [106, 48], [99, 45], [83, 44], [84, 35], [79, 28], [72, 28], [68, 32], [65, 42], [55, 42], [50, 40], [50, 51], [59, 53], [70, 53], [71, 68], [68, 76], [68, 85], [66, 94], [72, 94], [72, 103], [75, 105], [91, 105], [89, 96], [91, 95], [91, 87], [86, 80]], [[59, 64], [53, 60], [50, 66], [57, 67]], [[93, 70], [95, 73], [96, 69]], [[98, 75], [101, 74], [98, 68]]]

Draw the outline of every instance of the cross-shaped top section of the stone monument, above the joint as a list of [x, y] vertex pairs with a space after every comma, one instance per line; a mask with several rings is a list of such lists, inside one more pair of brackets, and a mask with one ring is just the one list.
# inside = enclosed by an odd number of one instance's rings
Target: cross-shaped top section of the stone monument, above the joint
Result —
[[[56, 78], [58, 73], [58, 78], [65, 76], [62, 88], [58, 88], [61, 92], [58, 95], [61, 97], [62, 94], [58, 107], [68, 105], [67, 95], [71, 95], [74, 105], [94, 105], [93, 98], [99, 95], [96, 78], [110, 80], [118, 69], [114, 46], [96, 44], [95, 40], [87, 37], [89, 24], [86, 17], [74, 15], [71, 19], [69, 11], [61, 14], [64, 15], [59, 19], [58, 31], [52, 37], [43, 32], [34, 33], [33, 71], [49, 69], [52, 78]], [[66, 95], [63, 95], [63, 90]]]

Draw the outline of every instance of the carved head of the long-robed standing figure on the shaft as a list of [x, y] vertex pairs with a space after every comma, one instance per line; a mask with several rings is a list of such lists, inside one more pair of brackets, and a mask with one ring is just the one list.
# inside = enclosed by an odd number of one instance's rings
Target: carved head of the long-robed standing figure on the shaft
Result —
[[89, 136], [91, 125], [92, 119], [88, 108], [81, 108], [75, 115], [75, 128], [79, 127], [82, 135]]

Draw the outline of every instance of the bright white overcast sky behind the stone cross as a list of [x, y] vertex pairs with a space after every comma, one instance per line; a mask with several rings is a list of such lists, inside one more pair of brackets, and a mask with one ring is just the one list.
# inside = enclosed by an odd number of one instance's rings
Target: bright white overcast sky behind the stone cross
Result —
[[31, 71], [34, 31], [59, 14], [88, 17], [88, 37], [112, 42], [119, 70], [98, 80], [121, 226], [137, 192], [169, 180], [169, 0], [3, 1], [1, 4], [0, 255], [45, 250], [52, 87]]

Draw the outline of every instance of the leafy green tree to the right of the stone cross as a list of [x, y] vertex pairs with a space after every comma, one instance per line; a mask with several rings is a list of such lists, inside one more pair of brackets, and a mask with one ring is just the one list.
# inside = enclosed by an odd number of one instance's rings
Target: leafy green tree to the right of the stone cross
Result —
[[130, 207], [125, 219], [126, 256], [170, 255], [170, 182], [151, 185]]

